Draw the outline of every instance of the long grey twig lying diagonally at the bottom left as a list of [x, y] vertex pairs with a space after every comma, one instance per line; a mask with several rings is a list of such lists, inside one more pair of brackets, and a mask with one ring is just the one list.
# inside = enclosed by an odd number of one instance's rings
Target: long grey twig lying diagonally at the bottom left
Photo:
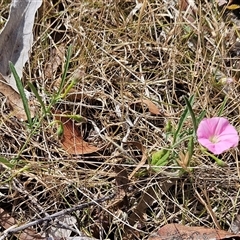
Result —
[[89, 202], [89, 203], [83, 203], [83, 204], [78, 205], [78, 206], [76, 206], [76, 207], [64, 209], [64, 210], [62, 210], [62, 211], [60, 211], [60, 212], [56, 212], [56, 213], [54, 213], [54, 214], [52, 214], [52, 215], [49, 215], [49, 216], [46, 216], [46, 217], [44, 217], [44, 218], [37, 219], [37, 220], [35, 220], [35, 221], [26, 223], [26, 224], [24, 224], [24, 225], [22, 225], [22, 226], [20, 226], [20, 227], [11, 228], [11, 229], [9, 228], [9, 229], [7, 229], [7, 230], [4, 231], [3, 236], [0, 237], [0, 240], [3, 240], [3, 239], [4, 239], [5, 237], [7, 237], [9, 234], [14, 234], [14, 233], [23, 231], [23, 230], [25, 230], [26, 228], [32, 227], [32, 226], [34, 226], [34, 225], [41, 224], [41, 223], [43, 223], [43, 222], [45, 222], [45, 221], [52, 221], [52, 220], [54, 220], [54, 219], [57, 218], [57, 217], [60, 217], [60, 216], [63, 216], [63, 215], [67, 215], [67, 214], [70, 214], [70, 213], [72, 213], [72, 212], [74, 212], [74, 211], [81, 210], [81, 209], [84, 209], [84, 208], [93, 206], [93, 205], [95, 205], [95, 204], [97, 204], [97, 203], [105, 202], [105, 201], [107, 201], [107, 200], [110, 200], [110, 199], [114, 198], [114, 196], [115, 196], [115, 193], [113, 193], [113, 194], [111, 194], [111, 195], [109, 195], [109, 196], [107, 196], [107, 197], [103, 197], [103, 198], [100, 198], [100, 199], [97, 199], [97, 200], [93, 200], [93, 201], [91, 201], [91, 202]]

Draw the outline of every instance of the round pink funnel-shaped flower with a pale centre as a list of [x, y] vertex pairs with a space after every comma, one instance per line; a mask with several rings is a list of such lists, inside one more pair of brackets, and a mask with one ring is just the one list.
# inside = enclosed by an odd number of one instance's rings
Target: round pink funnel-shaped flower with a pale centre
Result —
[[198, 126], [197, 138], [214, 154], [236, 147], [239, 141], [236, 129], [223, 117], [204, 118]]

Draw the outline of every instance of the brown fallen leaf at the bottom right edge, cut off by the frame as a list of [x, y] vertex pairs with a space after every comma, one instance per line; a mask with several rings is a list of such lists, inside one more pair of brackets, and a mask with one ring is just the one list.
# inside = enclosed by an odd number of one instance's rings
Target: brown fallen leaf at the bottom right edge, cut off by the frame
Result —
[[218, 229], [204, 228], [204, 227], [187, 227], [181, 224], [167, 224], [161, 227], [158, 232], [148, 238], [148, 240], [174, 240], [174, 239], [206, 239], [206, 240], [220, 240], [233, 239], [240, 237], [240, 235], [233, 235]]

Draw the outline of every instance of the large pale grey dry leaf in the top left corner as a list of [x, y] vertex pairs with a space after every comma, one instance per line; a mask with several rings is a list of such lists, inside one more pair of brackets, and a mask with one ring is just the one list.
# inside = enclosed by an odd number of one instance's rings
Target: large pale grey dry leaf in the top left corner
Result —
[[[9, 62], [22, 78], [23, 67], [29, 59], [33, 42], [33, 24], [42, 0], [14, 0], [7, 23], [0, 33], [0, 73], [8, 84], [18, 92], [15, 79], [10, 72]], [[0, 91], [2, 91], [0, 89]], [[3, 93], [4, 94], [4, 93]]]

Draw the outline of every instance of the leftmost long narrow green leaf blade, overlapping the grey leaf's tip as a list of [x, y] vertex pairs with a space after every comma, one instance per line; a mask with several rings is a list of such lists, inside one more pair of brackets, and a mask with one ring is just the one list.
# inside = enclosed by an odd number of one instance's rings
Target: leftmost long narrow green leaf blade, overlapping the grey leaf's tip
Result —
[[28, 124], [29, 124], [29, 126], [31, 128], [32, 127], [31, 112], [30, 112], [30, 108], [29, 108], [29, 105], [28, 105], [28, 99], [26, 97], [26, 94], [25, 94], [25, 91], [24, 91], [21, 79], [19, 78], [19, 76], [17, 74], [17, 71], [16, 71], [16, 69], [15, 69], [15, 67], [14, 67], [12, 62], [9, 62], [9, 67], [10, 67], [10, 70], [11, 70], [11, 72], [12, 72], [12, 74], [14, 76], [14, 79], [16, 81], [16, 85], [17, 85], [19, 94], [21, 96], [22, 102], [23, 102], [24, 111], [25, 111], [25, 113], [27, 115]]

